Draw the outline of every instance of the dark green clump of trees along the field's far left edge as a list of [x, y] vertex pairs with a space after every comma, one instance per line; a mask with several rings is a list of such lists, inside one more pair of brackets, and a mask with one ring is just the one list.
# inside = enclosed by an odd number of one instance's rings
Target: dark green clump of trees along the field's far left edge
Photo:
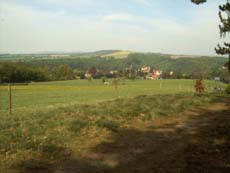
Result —
[[73, 69], [68, 65], [49, 68], [45, 66], [31, 66], [24, 63], [0, 63], [0, 83], [25, 83], [51, 80], [74, 79]]

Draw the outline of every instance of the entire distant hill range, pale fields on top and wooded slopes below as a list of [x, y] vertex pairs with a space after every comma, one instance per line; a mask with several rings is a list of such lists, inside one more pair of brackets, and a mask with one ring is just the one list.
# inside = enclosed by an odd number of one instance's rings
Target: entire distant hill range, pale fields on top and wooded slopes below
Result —
[[[63, 55], [63, 57], [62, 57]], [[121, 50], [101, 50], [71, 54], [30, 54], [30, 55], [2, 55], [0, 61], [24, 62], [35, 66], [56, 66], [67, 64], [80, 71], [91, 67], [109, 71], [125, 68], [141, 68], [149, 66], [163, 72], [174, 71], [180, 74], [202, 72], [218, 74], [227, 62], [224, 57], [168, 55], [161, 53], [134, 53]]]

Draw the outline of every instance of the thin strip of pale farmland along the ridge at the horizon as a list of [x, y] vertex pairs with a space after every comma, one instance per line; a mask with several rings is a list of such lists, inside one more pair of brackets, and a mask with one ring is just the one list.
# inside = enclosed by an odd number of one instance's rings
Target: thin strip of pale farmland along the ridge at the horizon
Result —
[[[0, 54], [0, 61], [20, 61], [24, 62], [27, 60], [55, 60], [55, 59], [78, 59], [78, 58], [115, 58], [115, 59], [126, 59], [132, 54], [140, 54], [140, 56], [146, 55], [147, 57], [158, 57], [162, 59], [167, 57], [171, 60], [179, 59], [199, 59], [199, 58], [221, 58], [220, 56], [205, 56], [205, 55], [176, 55], [167, 53], [152, 53], [152, 52], [134, 52], [129, 50], [99, 50], [92, 52], [58, 52], [58, 51], [47, 51], [40, 53], [30, 54]], [[224, 58], [224, 57], [222, 57]]]

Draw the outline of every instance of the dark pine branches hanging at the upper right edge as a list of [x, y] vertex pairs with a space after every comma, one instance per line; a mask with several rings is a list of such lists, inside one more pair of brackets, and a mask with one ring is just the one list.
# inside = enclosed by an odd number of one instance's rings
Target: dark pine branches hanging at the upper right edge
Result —
[[[191, 0], [195, 4], [204, 3], [207, 0]], [[223, 5], [219, 6], [219, 18], [221, 25], [219, 25], [220, 30], [220, 36], [225, 37], [227, 33], [230, 34], [230, 2], [227, 0], [227, 2]], [[223, 17], [223, 13], [227, 14], [227, 17]], [[224, 43], [223, 46], [220, 46], [219, 44], [215, 48], [215, 51], [219, 55], [228, 55], [229, 60], [227, 63], [228, 71], [230, 73], [230, 43]]]

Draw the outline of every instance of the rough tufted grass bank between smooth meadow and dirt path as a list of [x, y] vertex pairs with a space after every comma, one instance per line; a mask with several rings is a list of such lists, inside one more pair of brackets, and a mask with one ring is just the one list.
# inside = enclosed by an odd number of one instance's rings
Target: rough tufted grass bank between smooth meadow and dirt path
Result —
[[[65, 106], [49, 111], [0, 116], [1, 166], [37, 169], [49, 167], [80, 143], [96, 145], [100, 136], [127, 127], [132, 121], [150, 121], [204, 106], [215, 95], [140, 95], [95, 104]], [[90, 144], [87, 144], [87, 140]], [[81, 150], [81, 148], [77, 148]]]

